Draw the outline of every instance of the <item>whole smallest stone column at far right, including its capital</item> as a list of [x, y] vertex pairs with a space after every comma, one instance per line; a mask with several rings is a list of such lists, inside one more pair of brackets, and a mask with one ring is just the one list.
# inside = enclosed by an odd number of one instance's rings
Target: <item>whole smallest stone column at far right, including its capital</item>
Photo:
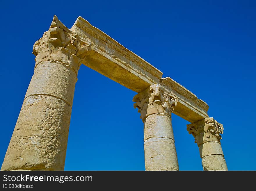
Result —
[[227, 170], [220, 142], [223, 130], [223, 125], [212, 117], [187, 125], [187, 131], [199, 147], [204, 170]]

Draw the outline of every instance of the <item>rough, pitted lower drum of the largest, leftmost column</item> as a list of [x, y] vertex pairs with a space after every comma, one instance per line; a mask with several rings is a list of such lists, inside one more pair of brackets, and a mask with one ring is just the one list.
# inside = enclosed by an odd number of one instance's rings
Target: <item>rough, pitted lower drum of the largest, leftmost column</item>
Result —
[[24, 100], [1, 170], [64, 169], [71, 106], [47, 95]]

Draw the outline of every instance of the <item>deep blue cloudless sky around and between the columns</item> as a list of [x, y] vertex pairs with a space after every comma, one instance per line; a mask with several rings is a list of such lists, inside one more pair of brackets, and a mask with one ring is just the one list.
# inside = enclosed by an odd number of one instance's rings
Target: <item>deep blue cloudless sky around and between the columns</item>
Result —
[[[33, 75], [33, 44], [53, 15], [78, 16], [141, 56], [209, 105], [224, 125], [229, 170], [256, 170], [256, 1], [0, 1], [1, 139], [6, 153]], [[74, 93], [65, 170], [145, 170], [136, 94], [82, 65]], [[98, 101], [95, 101], [98, 100]], [[202, 170], [186, 120], [173, 114], [180, 170]]]

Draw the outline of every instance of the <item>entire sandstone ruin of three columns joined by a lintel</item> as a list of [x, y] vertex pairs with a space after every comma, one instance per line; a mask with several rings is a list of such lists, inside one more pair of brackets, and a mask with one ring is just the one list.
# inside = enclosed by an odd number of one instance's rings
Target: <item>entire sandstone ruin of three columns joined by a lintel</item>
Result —
[[71, 29], [54, 16], [33, 47], [34, 75], [1, 170], [63, 170], [72, 102], [81, 64], [138, 92], [134, 107], [144, 122], [146, 170], [179, 170], [171, 113], [191, 124], [204, 170], [227, 170], [223, 125], [208, 105], [117, 41], [78, 17]]

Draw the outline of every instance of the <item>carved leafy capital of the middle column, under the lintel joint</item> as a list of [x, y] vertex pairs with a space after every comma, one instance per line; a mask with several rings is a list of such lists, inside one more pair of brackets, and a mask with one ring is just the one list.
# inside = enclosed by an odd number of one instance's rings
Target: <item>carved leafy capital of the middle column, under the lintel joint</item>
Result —
[[143, 122], [147, 116], [154, 113], [165, 113], [171, 116], [178, 103], [177, 97], [160, 84], [150, 85], [149, 88], [135, 95], [133, 101], [136, 102], [134, 108], [138, 108]]

